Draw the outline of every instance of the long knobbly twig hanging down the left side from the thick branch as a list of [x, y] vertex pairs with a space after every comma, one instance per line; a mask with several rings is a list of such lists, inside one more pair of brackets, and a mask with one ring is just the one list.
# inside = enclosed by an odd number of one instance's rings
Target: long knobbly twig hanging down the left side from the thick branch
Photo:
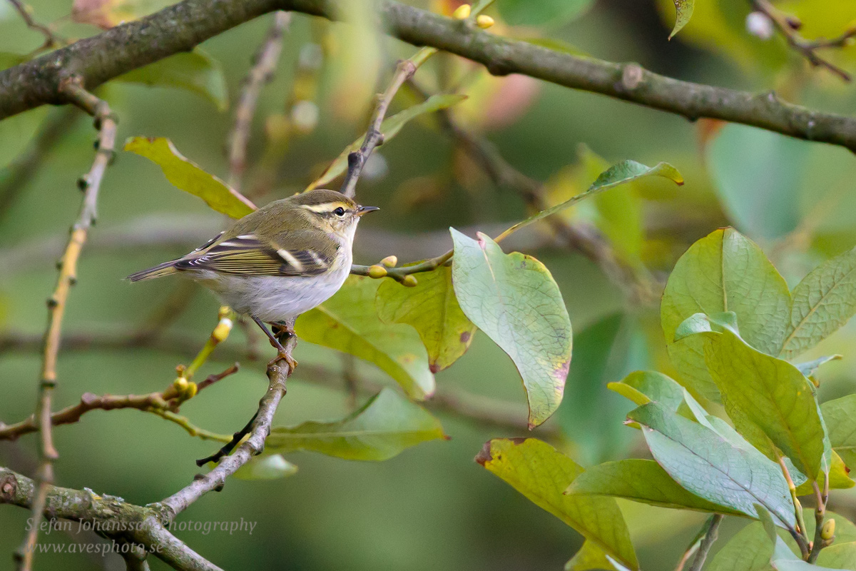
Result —
[[51, 396], [56, 386], [56, 359], [59, 354], [62, 334], [62, 316], [65, 312], [68, 292], [77, 281], [77, 261], [80, 251], [86, 242], [86, 235], [97, 217], [96, 205], [98, 190], [104, 177], [104, 170], [113, 157], [113, 146], [116, 141], [116, 117], [110, 112], [106, 102], [87, 92], [82, 81], [71, 78], [63, 82], [62, 96], [68, 103], [85, 110], [95, 118], [95, 128], [98, 129], [98, 145], [95, 160], [89, 172], [80, 178], [79, 186], [83, 190], [83, 205], [80, 216], [71, 229], [65, 253], [59, 262], [59, 277], [56, 289], [48, 300], [48, 326], [45, 330], [45, 350], [42, 361], [41, 380], [39, 382], [39, 400], [34, 417], [39, 421], [41, 433], [39, 447], [39, 469], [36, 472], [36, 494], [33, 499], [33, 522], [29, 526], [21, 547], [15, 551], [15, 561], [18, 568], [29, 571], [33, 566], [33, 550], [39, 537], [39, 523], [45, 508], [45, 497], [50, 485], [53, 484], [53, 462], [58, 458], [53, 443], [51, 431]]

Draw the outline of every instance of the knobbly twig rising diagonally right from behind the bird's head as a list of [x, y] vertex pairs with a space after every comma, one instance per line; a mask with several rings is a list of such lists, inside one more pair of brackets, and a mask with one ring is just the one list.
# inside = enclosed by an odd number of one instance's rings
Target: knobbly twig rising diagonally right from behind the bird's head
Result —
[[389, 86], [377, 98], [377, 105], [372, 113], [372, 119], [369, 122], [369, 128], [366, 130], [363, 144], [360, 145], [360, 150], [348, 154], [348, 172], [345, 174], [345, 180], [342, 181], [340, 193], [348, 198], [354, 197], [357, 180], [360, 178], [363, 167], [366, 166], [366, 161], [375, 147], [383, 145], [383, 133], [381, 133], [380, 126], [383, 123], [383, 117], [386, 116], [386, 111], [389, 109], [389, 104], [392, 103], [392, 98], [395, 97], [395, 93], [404, 85], [404, 82], [413, 77], [419, 66], [436, 53], [436, 48], [422, 48], [413, 57], [402, 60], [395, 66], [395, 74], [392, 74]]

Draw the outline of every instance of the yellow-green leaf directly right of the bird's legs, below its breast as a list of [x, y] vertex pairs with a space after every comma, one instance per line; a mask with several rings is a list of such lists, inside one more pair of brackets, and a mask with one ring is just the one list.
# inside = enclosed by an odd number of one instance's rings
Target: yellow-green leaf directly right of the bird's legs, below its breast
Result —
[[349, 276], [323, 304], [297, 318], [300, 339], [352, 354], [380, 367], [411, 398], [434, 393], [434, 376], [419, 334], [406, 324], [385, 324], [375, 312], [379, 280]]

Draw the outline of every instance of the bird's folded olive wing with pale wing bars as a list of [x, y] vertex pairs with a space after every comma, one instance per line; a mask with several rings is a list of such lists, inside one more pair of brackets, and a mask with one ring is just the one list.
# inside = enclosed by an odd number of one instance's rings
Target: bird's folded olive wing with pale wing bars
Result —
[[[317, 243], [312, 230], [289, 234], [279, 246], [253, 234], [217, 239], [175, 262], [176, 270], [208, 270], [244, 276], [318, 276], [330, 268], [333, 254], [330, 248], [310, 248]], [[218, 236], [219, 238], [219, 236]], [[314, 240], [310, 240], [314, 238]], [[330, 240], [327, 235], [323, 238]]]

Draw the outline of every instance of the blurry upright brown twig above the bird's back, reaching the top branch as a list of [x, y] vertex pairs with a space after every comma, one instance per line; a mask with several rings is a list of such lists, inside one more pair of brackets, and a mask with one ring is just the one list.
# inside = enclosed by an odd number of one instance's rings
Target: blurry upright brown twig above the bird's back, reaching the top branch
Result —
[[253, 58], [253, 67], [244, 79], [241, 97], [235, 107], [235, 123], [229, 134], [227, 155], [229, 157], [229, 187], [241, 189], [241, 176], [247, 168], [247, 143], [250, 140], [250, 128], [255, 115], [256, 104], [262, 86], [273, 77], [276, 62], [282, 52], [282, 33], [290, 20], [288, 12], [276, 12], [273, 24]]

